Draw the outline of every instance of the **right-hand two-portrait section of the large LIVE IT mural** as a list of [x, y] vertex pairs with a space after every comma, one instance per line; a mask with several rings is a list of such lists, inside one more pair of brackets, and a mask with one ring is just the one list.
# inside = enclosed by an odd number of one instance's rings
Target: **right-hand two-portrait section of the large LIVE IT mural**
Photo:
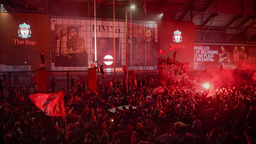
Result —
[[[158, 49], [158, 28], [152, 23], [133, 23], [132, 36], [130, 36], [130, 24], [128, 23], [127, 49], [128, 66], [130, 66], [130, 39], [132, 37], [132, 66], [149, 66], [147, 70], [156, 69]], [[145, 42], [146, 39], [146, 42]], [[146, 43], [146, 50], [145, 50]], [[136, 69], [135, 69], [136, 70]]]

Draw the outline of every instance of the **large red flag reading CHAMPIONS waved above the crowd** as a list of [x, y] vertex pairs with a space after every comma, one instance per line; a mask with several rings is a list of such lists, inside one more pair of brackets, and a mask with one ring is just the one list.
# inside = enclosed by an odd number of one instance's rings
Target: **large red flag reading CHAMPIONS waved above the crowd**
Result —
[[31, 101], [48, 116], [65, 116], [65, 106], [62, 92], [52, 94], [30, 95]]

